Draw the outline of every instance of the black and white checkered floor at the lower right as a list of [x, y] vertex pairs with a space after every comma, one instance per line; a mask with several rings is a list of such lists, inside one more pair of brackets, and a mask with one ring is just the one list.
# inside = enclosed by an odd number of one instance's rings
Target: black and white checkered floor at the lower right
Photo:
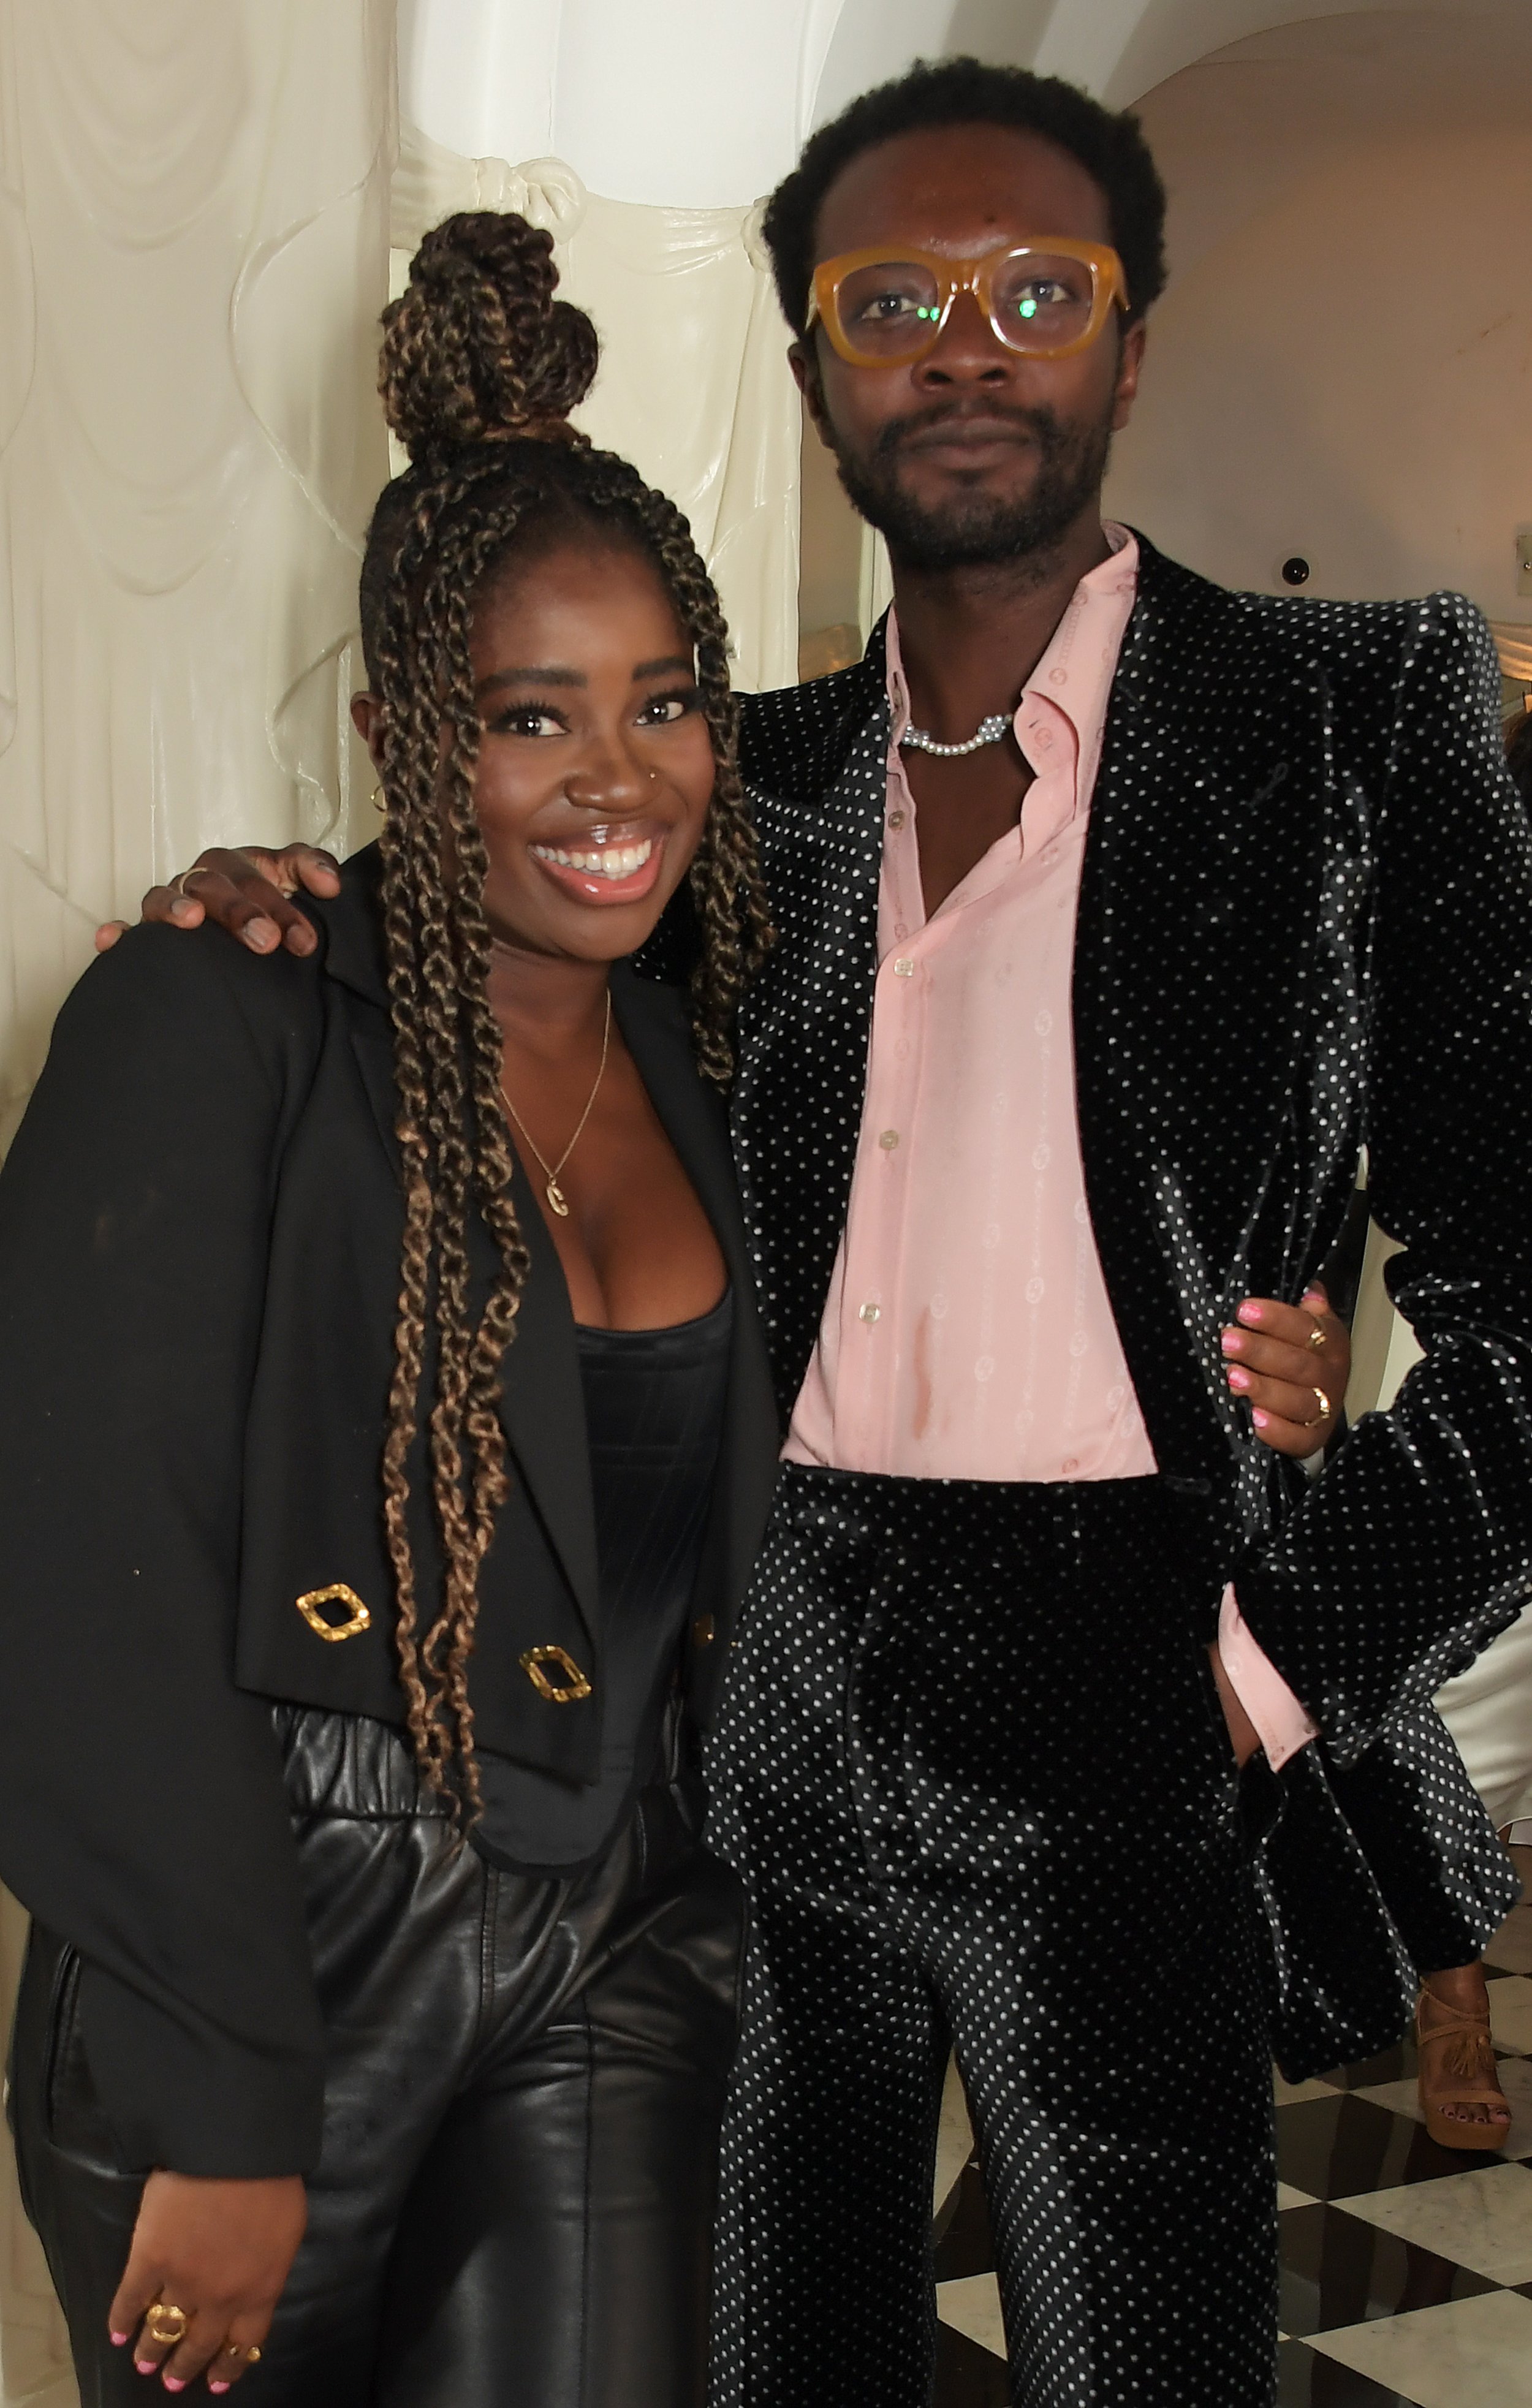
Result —
[[[1436, 2148], [1414, 2047], [1277, 2083], [1281, 2408], [1532, 2408], [1532, 1849], [1486, 1948], [1510, 2138]], [[956, 2081], [937, 2170], [937, 2408], [1007, 2408], [1000, 2295]]]

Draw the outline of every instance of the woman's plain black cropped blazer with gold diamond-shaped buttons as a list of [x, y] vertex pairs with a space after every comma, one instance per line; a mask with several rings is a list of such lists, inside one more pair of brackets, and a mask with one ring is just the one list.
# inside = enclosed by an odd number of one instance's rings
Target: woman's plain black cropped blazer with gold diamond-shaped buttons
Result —
[[[128, 2165], [313, 2162], [320, 2032], [270, 1700], [402, 1722], [381, 1531], [402, 1197], [376, 850], [320, 954], [135, 929], [65, 1002], [0, 1175], [0, 1873], [84, 1960]], [[612, 1002], [735, 1283], [687, 1693], [706, 1719], [776, 1479], [720, 1098], [682, 997]], [[484, 1570], [479, 1746], [593, 1780], [602, 1630], [568, 1291], [525, 1182], [511, 1498]], [[475, 1230], [475, 1281], [491, 1276]], [[431, 1556], [424, 1464], [417, 1544]], [[320, 1637], [344, 1584], [371, 1625]], [[426, 1584], [426, 1599], [431, 1587]], [[347, 1611], [330, 1606], [330, 1616]], [[554, 1705], [520, 1654], [561, 1645]]]

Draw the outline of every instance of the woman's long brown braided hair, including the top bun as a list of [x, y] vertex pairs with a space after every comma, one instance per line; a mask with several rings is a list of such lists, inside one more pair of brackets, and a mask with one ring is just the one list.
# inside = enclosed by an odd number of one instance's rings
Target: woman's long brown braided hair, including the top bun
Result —
[[[450, 217], [424, 238], [407, 291], [383, 313], [378, 366], [388, 424], [412, 460], [378, 501], [361, 568], [366, 667], [383, 706], [383, 934], [405, 1158], [383, 1517], [414, 1755], [465, 1823], [479, 1813], [467, 1695], [477, 1582], [508, 1493], [501, 1361], [528, 1279], [489, 1009], [470, 662], [475, 600], [511, 559], [525, 566], [566, 542], [631, 547], [658, 571], [694, 643], [718, 778], [689, 879], [701, 934], [691, 1021], [701, 1072], [718, 1086], [732, 1072], [740, 992], [771, 944], [718, 595], [674, 503], [568, 426], [595, 376], [597, 340], [583, 311], [554, 299], [552, 248], [523, 217], [489, 209]], [[472, 1209], [499, 1250], [477, 1327]], [[409, 1454], [431, 1336], [429, 1462], [446, 1577], [422, 1633]]]

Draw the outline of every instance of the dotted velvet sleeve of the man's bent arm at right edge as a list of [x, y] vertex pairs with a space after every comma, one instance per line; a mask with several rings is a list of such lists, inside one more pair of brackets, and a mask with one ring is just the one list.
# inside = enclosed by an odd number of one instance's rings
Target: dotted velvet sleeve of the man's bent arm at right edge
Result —
[[1424, 1361], [1238, 1568], [1339, 1763], [1532, 1594], [1532, 833], [1460, 595], [1421, 604], [1404, 657], [1366, 1064], [1371, 1209]]

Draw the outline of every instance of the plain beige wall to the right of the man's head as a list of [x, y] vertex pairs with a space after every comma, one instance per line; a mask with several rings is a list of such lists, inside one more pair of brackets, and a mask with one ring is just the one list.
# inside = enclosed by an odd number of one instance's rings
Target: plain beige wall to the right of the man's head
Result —
[[1532, 12], [1262, 34], [1142, 104], [1171, 188], [1110, 508], [1228, 585], [1532, 621]]

